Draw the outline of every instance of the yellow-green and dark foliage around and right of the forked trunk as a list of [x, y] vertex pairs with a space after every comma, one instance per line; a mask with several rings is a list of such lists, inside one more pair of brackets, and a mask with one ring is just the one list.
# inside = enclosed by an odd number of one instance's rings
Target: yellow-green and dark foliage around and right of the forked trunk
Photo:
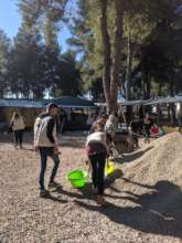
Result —
[[[114, 1], [108, 1], [108, 28], [113, 44]], [[153, 93], [153, 83], [158, 84], [158, 88], [154, 88], [156, 95], [161, 93], [161, 84], [165, 87], [165, 94], [172, 95], [181, 91], [182, 14], [176, 11], [180, 4], [181, 0], [122, 0], [121, 85], [125, 86], [127, 77], [125, 73], [130, 53], [129, 36], [132, 49], [131, 85], [132, 91], [138, 91], [138, 97], [150, 95], [150, 89]], [[72, 33], [73, 38], [68, 43], [82, 53], [82, 77], [85, 88], [92, 89], [103, 72], [98, 0], [78, 0], [78, 14], [73, 21]], [[172, 93], [171, 84], [174, 89]], [[148, 94], [144, 94], [147, 89]], [[135, 93], [132, 97], [136, 97]]]

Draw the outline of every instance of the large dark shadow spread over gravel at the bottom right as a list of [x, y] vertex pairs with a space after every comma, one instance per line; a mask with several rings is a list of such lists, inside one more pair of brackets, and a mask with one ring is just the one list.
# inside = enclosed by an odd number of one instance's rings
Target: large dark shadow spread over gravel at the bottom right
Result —
[[[128, 179], [125, 179], [126, 181]], [[125, 224], [146, 233], [182, 237], [182, 191], [181, 188], [169, 181], [159, 181], [154, 186], [141, 184], [128, 180], [136, 187], [152, 190], [150, 193], [135, 194], [126, 191], [128, 196], [117, 199], [130, 200], [135, 207], [118, 207], [109, 204], [108, 208], [88, 205], [76, 201], [79, 207], [90, 211], [98, 211], [113, 222]], [[113, 196], [111, 196], [113, 197]], [[115, 198], [115, 196], [114, 196]]]

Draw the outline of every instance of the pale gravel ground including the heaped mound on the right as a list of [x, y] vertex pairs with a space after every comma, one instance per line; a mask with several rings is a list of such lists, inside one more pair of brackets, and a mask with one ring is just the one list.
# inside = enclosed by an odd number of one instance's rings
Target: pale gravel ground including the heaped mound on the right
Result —
[[[73, 189], [65, 175], [84, 163], [84, 137], [62, 137], [57, 190], [38, 197], [39, 156], [26, 136], [15, 150], [0, 137], [1, 243], [180, 243], [182, 242], [182, 137], [167, 135], [117, 163], [106, 181], [107, 208], [90, 186]], [[49, 161], [46, 181], [51, 171]], [[122, 176], [120, 176], [120, 169]]]

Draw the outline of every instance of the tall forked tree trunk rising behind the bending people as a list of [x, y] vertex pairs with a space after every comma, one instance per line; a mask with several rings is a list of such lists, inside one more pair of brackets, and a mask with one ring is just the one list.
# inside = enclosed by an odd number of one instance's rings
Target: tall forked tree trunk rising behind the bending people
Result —
[[103, 85], [107, 103], [107, 113], [117, 110], [117, 95], [119, 84], [120, 55], [121, 55], [121, 38], [122, 38], [122, 4], [121, 0], [115, 0], [115, 29], [114, 29], [114, 46], [111, 55], [110, 36], [107, 25], [107, 0], [99, 0], [100, 3], [100, 32], [103, 42], [104, 71]]

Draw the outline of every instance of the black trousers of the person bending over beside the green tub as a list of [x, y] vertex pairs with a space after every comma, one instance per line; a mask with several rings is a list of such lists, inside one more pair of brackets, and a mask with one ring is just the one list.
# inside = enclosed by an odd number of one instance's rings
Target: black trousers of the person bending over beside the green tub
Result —
[[106, 154], [98, 154], [88, 156], [89, 161], [93, 167], [93, 184], [98, 190], [98, 194], [104, 194], [104, 177], [105, 177], [105, 163], [106, 163]]

